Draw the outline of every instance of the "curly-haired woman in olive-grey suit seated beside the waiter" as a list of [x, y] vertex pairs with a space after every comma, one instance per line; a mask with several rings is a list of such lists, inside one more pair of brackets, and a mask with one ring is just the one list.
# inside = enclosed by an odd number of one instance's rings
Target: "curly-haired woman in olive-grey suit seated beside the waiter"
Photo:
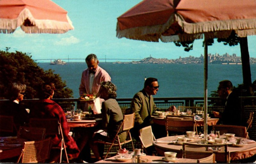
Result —
[[[93, 141], [103, 140], [108, 142], [113, 142], [113, 138], [116, 136], [116, 133], [121, 126], [124, 116], [120, 106], [116, 101], [116, 86], [112, 82], [101, 82], [100, 83], [100, 98], [103, 98], [105, 101], [102, 102], [102, 130], [99, 130], [95, 133]], [[120, 133], [119, 135], [120, 142], [124, 142], [126, 139], [126, 132]], [[97, 160], [101, 160], [103, 153], [99, 152], [99, 144], [90, 143], [92, 152], [94, 153]]]

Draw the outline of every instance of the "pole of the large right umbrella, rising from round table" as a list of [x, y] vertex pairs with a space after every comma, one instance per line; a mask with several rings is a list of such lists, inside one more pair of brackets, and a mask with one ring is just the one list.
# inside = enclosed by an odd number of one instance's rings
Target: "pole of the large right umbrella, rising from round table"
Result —
[[207, 80], [208, 80], [208, 39], [204, 36], [204, 140], [207, 141]]

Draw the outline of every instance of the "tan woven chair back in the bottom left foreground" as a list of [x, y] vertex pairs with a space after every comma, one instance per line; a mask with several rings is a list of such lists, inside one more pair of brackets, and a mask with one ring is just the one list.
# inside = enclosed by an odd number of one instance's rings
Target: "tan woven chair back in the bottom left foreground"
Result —
[[51, 138], [41, 141], [24, 142], [22, 153], [20, 155], [21, 163], [44, 163], [50, 155], [50, 143]]

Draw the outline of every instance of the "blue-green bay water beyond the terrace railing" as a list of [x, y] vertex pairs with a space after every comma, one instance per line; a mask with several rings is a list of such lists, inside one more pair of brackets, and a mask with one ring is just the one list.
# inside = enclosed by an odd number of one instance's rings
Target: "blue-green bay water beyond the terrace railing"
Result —
[[[79, 98], [81, 75], [85, 62], [68, 62], [66, 65], [38, 63], [44, 70], [60, 74], [67, 87]], [[158, 79], [159, 91], [154, 97], [204, 97], [204, 64], [116, 64], [100, 62], [111, 81], [117, 86], [117, 98], [132, 98], [143, 89], [144, 78]], [[256, 65], [251, 65], [252, 82], [256, 78]], [[208, 96], [216, 91], [219, 82], [230, 80], [234, 86], [243, 83], [242, 65], [208, 65]]]

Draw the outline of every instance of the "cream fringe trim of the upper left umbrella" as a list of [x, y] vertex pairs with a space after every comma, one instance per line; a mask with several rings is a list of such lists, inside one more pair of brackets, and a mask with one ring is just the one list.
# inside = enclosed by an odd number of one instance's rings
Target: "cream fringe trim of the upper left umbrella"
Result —
[[[23, 26], [23, 22], [29, 19], [31, 24], [35, 26]], [[25, 33], [65, 33], [68, 30], [74, 29], [71, 20], [61, 22], [56, 20], [36, 20], [31, 12], [25, 8], [16, 19], [0, 19], [0, 33], [13, 33], [17, 27], [21, 27]]]

